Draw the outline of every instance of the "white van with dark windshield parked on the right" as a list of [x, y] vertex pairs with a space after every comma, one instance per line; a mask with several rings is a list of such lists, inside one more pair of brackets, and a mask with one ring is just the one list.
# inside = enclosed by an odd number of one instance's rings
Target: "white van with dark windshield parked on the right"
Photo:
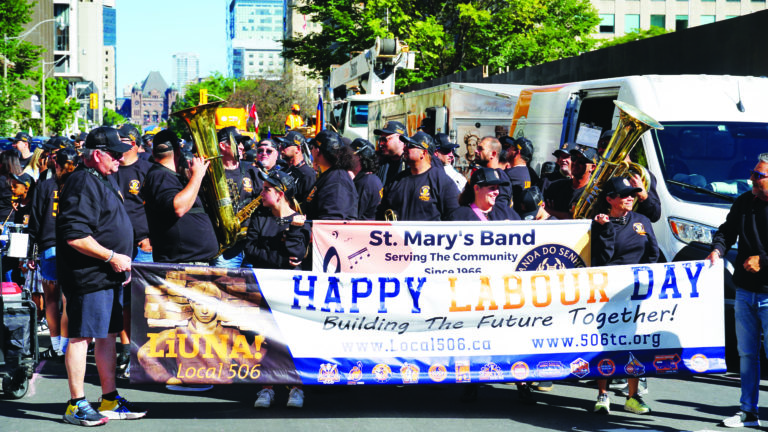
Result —
[[[635, 145], [639, 162], [657, 180], [661, 219], [654, 232], [664, 259], [704, 258], [733, 199], [751, 189], [747, 179], [757, 156], [768, 151], [768, 78], [646, 75], [535, 87], [521, 92], [510, 135], [533, 141], [538, 170], [558, 145], [574, 141], [580, 125], [615, 128], [614, 100], [664, 126]], [[725, 264], [731, 306], [733, 267]], [[726, 312], [732, 323], [732, 308]]]

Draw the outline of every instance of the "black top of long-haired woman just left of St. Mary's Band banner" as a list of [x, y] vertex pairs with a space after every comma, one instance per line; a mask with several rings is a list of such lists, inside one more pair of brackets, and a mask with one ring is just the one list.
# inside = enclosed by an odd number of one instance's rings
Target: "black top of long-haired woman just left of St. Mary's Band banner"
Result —
[[310, 226], [291, 225], [293, 215], [277, 218], [271, 213], [259, 212], [251, 218], [245, 239], [245, 256], [257, 268], [290, 269], [289, 257], [303, 260], [307, 254]]

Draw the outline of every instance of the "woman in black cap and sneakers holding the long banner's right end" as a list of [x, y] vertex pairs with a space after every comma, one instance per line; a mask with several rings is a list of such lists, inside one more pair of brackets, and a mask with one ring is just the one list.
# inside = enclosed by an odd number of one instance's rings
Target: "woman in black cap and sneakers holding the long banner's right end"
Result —
[[[642, 189], [632, 187], [625, 177], [614, 177], [598, 196], [597, 215], [592, 221], [592, 265], [652, 264], [659, 259], [659, 246], [650, 219], [632, 211], [635, 195]], [[628, 396], [624, 410], [635, 414], [651, 411], [638, 394], [638, 378], [628, 378]], [[594, 411], [608, 414], [608, 380], [598, 379]]]

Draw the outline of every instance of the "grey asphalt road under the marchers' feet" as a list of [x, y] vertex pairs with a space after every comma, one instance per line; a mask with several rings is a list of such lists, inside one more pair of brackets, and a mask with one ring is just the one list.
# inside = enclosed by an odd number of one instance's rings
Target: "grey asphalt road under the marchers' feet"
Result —
[[[89, 358], [92, 360], [92, 358]], [[612, 396], [608, 416], [591, 412], [594, 383], [558, 382], [551, 392], [535, 392], [535, 405], [518, 400], [514, 385], [484, 385], [474, 403], [460, 402], [462, 387], [356, 386], [305, 388], [302, 409], [285, 407], [287, 389], [276, 388], [269, 409], [254, 409], [258, 387], [220, 385], [205, 393], [172, 393], [162, 385], [119, 384], [121, 394], [149, 413], [134, 421], [111, 421], [113, 431], [701, 431], [726, 430], [717, 423], [738, 408], [739, 381], [734, 374], [649, 379], [646, 402], [652, 415], [623, 411], [624, 398]], [[761, 398], [768, 397], [763, 381]], [[100, 396], [98, 375], [91, 364], [86, 395]], [[0, 400], [0, 431], [74, 430], [61, 416], [69, 397], [62, 363], [45, 362], [22, 399]], [[768, 410], [763, 410], [768, 419]], [[768, 424], [768, 423], [766, 423]]]

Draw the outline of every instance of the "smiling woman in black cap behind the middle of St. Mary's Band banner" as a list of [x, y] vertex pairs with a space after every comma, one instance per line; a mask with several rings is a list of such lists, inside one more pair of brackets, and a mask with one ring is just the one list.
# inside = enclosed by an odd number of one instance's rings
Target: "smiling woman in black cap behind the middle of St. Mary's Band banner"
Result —
[[[478, 168], [472, 173], [469, 183], [459, 195], [459, 208], [452, 215], [454, 221], [489, 221], [494, 220], [493, 206], [499, 196], [499, 186], [508, 186], [509, 182], [499, 177], [493, 168]], [[496, 215], [500, 212], [495, 213]], [[514, 210], [509, 209], [510, 220], [520, 220]]]

